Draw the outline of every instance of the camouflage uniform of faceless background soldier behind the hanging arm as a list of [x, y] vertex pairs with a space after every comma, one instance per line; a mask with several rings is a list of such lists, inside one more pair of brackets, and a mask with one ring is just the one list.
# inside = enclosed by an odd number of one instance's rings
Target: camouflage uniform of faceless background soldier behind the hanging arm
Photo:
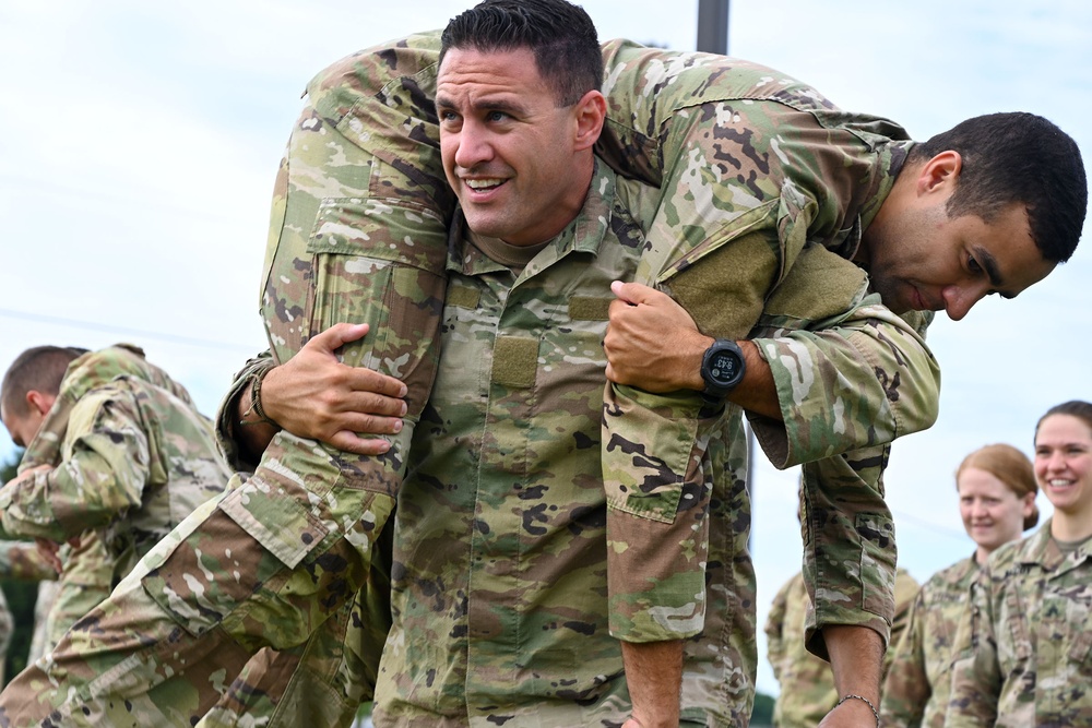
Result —
[[[899, 569], [894, 582], [895, 616], [891, 626], [894, 643], [910, 624], [911, 606], [917, 594], [917, 582], [905, 569]], [[767, 647], [773, 676], [781, 693], [773, 706], [773, 725], [778, 728], [812, 728], [838, 703], [834, 675], [830, 664], [819, 659], [804, 646], [804, 628], [811, 606], [803, 574], [785, 582], [773, 598], [765, 622]], [[883, 660], [890, 669], [892, 653]], [[885, 721], [883, 725], [889, 725]]]

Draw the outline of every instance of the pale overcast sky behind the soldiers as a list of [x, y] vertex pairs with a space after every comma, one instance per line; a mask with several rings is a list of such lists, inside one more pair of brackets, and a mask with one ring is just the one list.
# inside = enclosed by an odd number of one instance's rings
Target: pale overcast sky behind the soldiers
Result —
[[[584, 3], [602, 39], [677, 50], [695, 46], [697, 5]], [[265, 346], [269, 198], [305, 84], [342, 56], [440, 27], [466, 7], [5, 0], [0, 371], [29, 346], [132, 341], [212, 414], [233, 372]], [[803, 79], [845, 109], [890, 117], [915, 139], [1025, 110], [1092, 158], [1087, 0], [736, 0], [729, 25], [732, 55]], [[929, 332], [943, 369], [940, 420], [895, 444], [887, 476], [900, 563], [918, 581], [973, 548], [952, 479], [963, 455], [990, 442], [1030, 454], [1046, 408], [1092, 399], [1090, 284], [1085, 241], [1018, 300], [984, 301]], [[0, 457], [13, 454], [0, 434]], [[799, 568], [796, 475], [760, 455], [756, 490], [761, 623]], [[760, 652], [759, 689], [776, 692], [764, 643]]]

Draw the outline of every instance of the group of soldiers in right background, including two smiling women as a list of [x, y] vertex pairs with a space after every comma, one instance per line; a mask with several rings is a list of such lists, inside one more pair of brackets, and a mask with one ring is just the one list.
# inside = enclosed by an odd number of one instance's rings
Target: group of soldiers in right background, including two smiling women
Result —
[[[974, 552], [917, 588], [900, 570], [880, 718], [897, 728], [1082, 725], [1092, 626], [1092, 404], [1052, 407], [1035, 427], [1034, 463], [992, 444], [956, 469]], [[1042, 487], [1053, 517], [1038, 523]], [[900, 588], [901, 587], [901, 588]], [[838, 701], [829, 666], [803, 649], [810, 598], [798, 576], [765, 625], [781, 684], [773, 723], [816, 726]], [[950, 709], [957, 706], [958, 709]], [[1061, 715], [1061, 723], [1044, 720]]]

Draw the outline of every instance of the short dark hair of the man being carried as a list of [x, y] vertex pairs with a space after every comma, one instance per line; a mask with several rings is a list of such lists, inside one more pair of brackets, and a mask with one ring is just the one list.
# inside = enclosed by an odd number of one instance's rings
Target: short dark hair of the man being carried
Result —
[[992, 223], [1013, 203], [1026, 206], [1031, 237], [1043, 258], [1069, 260], [1088, 210], [1081, 152], [1051, 121], [1022, 111], [974, 117], [918, 144], [914, 162], [952, 150], [963, 158], [949, 217], [974, 214]]

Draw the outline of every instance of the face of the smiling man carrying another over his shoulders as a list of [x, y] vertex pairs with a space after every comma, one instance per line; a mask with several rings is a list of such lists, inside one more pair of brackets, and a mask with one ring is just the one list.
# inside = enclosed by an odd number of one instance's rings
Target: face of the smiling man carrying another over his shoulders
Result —
[[558, 108], [531, 50], [451, 48], [436, 106], [443, 169], [472, 230], [532, 246], [575, 217], [587, 192], [579, 105]]

